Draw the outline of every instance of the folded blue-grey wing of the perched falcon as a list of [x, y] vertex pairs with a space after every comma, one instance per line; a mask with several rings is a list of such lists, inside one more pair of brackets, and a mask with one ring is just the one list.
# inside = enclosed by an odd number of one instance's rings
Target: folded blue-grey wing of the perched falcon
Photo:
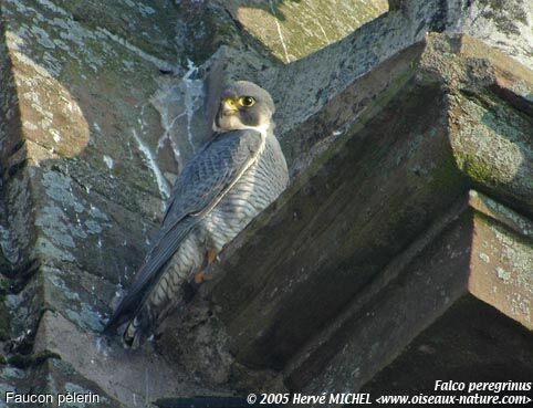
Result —
[[173, 188], [163, 228], [105, 332], [135, 315], [180, 242], [253, 164], [262, 144], [261, 134], [251, 129], [216, 135], [187, 163]]

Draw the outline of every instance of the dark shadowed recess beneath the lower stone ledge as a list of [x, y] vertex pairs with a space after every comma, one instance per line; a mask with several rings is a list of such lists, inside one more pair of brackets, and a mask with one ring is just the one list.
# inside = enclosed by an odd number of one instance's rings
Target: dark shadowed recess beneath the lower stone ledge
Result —
[[464, 295], [360, 391], [375, 397], [435, 393], [437, 379], [525, 383], [533, 376], [532, 342], [530, 331]]

